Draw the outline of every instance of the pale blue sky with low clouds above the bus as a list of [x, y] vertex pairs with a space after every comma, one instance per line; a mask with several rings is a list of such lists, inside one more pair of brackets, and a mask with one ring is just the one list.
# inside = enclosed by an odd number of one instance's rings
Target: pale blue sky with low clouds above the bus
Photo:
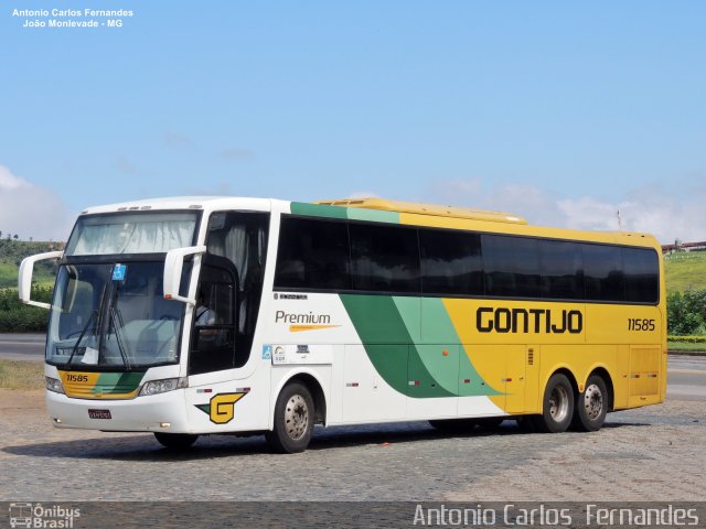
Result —
[[[0, 3], [3, 237], [234, 195], [706, 240], [700, 0]], [[50, 26], [85, 9], [132, 15]]]

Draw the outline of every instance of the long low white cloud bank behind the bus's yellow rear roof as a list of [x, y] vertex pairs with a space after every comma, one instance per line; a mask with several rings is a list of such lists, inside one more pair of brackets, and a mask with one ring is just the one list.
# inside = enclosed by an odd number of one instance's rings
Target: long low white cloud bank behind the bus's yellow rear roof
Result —
[[[706, 240], [706, 188], [680, 191], [645, 186], [618, 201], [596, 196], [560, 197], [526, 184], [485, 190], [478, 179], [437, 181], [435, 201], [505, 210], [530, 224], [574, 229], [624, 230], [653, 234], [661, 242]], [[620, 218], [618, 215], [620, 212]]]

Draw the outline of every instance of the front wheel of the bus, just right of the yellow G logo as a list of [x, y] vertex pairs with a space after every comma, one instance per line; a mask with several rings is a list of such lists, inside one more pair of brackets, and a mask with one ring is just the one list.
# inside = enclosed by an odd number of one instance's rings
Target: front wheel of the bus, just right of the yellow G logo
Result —
[[274, 428], [265, 438], [277, 452], [303, 452], [311, 442], [315, 417], [309, 388], [301, 382], [290, 382], [277, 397]]

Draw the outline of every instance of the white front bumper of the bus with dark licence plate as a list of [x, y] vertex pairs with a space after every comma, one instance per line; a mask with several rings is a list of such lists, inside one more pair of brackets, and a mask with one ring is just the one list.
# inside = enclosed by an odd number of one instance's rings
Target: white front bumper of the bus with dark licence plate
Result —
[[57, 428], [107, 432], [193, 433], [183, 390], [133, 399], [74, 399], [46, 391], [46, 411]]

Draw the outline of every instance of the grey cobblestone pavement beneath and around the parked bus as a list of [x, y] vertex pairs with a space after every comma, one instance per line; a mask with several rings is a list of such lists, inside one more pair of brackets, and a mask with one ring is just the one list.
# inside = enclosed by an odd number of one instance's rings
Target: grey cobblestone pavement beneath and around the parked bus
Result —
[[54, 429], [41, 391], [0, 390], [0, 500], [706, 500], [703, 403], [610, 414], [595, 433], [440, 433], [425, 422], [318, 429], [310, 449]]

